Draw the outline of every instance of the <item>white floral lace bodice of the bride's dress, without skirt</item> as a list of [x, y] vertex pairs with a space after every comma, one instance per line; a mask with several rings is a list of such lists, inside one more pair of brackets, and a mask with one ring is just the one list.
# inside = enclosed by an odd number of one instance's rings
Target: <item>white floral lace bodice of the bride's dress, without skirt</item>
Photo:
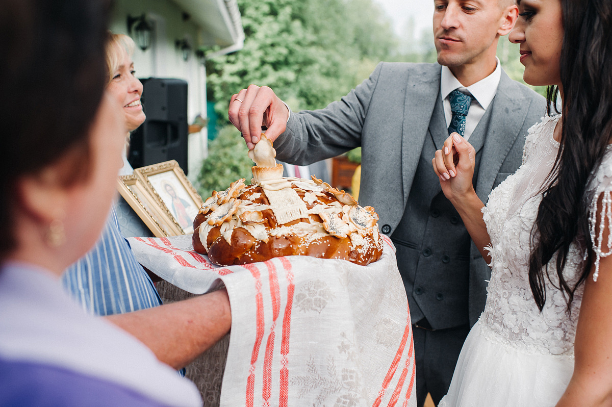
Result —
[[[540, 313], [528, 280], [531, 233], [542, 200], [540, 190], [559, 151], [559, 143], [553, 139], [556, 123], [556, 119], [547, 117], [529, 130], [523, 165], [491, 192], [483, 208], [491, 237], [491, 281], [480, 319], [510, 346], [528, 353], [572, 355], [583, 285], [578, 287], [568, 315], [564, 294], [545, 279], [546, 303]], [[564, 269], [566, 280], [575, 280], [583, 268], [583, 256], [583, 250], [572, 247]], [[554, 258], [549, 274], [556, 277]]]

